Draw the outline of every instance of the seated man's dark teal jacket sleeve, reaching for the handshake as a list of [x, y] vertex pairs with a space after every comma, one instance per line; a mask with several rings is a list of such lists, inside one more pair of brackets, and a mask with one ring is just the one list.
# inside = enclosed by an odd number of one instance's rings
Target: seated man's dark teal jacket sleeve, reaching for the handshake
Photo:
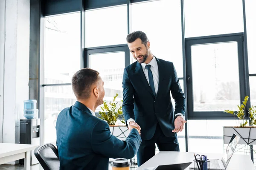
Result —
[[131, 159], [137, 153], [140, 143], [141, 137], [136, 129], [132, 129], [127, 139], [122, 141], [111, 135], [109, 125], [104, 121], [96, 123], [91, 133], [93, 151], [108, 158]]

